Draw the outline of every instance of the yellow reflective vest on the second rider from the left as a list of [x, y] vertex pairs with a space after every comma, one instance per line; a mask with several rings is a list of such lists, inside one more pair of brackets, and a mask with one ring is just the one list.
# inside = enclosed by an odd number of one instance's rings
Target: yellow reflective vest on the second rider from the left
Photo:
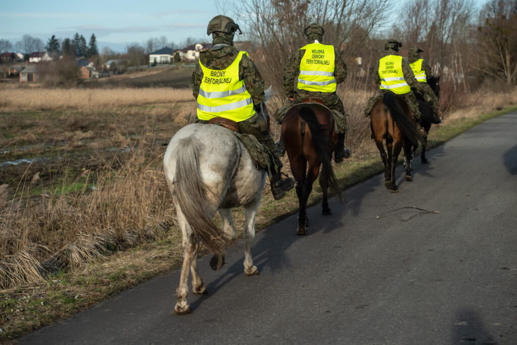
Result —
[[300, 48], [305, 54], [300, 62], [297, 87], [313, 92], [336, 92], [334, 79], [334, 47], [322, 43], [310, 43]]

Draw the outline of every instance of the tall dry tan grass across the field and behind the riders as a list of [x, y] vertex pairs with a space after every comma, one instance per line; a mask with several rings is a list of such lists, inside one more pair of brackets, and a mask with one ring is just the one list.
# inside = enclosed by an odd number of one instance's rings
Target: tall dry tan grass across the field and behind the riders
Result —
[[[373, 92], [340, 89], [339, 94], [350, 115], [347, 117], [347, 144], [354, 156], [375, 152], [369, 119], [363, 116]], [[161, 151], [157, 151], [153, 141], [160, 136], [168, 140], [176, 128], [193, 122], [195, 103], [190, 90], [15, 88], [1, 89], [0, 99], [4, 96], [7, 101], [3, 107], [6, 108], [0, 111], [65, 109], [54, 116], [55, 122], [41, 116], [46, 122], [26, 132], [17, 113], [6, 117], [8, 123], [0, 124], [0, 128], [18, 132], [26, 136], [25, 140], [34, 137], [31, 140], [41, 141], [41, 137], [46, 136], [54, 141], [69, 141], [64, 149], [129, 145], [133, 151], [127, 157], [113, 158], [119, 162], [117, 168], [85, 170], [76, 177], [84, 188], [73, 193], [54, 190], [32, 196], [29, 190], [40, 178], [34, 172], [21, 178], [14, 199], [8, 200], [7, 186], [0, 186], [1, 289], [35, 283], [42, 279], [45, 269], [82, 266], [114, 251], [160, 237], [169, 230], [174, 221], [173, 208], [161, 171]], [[449, 99], [454, 100], [454, 97], [450, 95]], [[279, 96], [273, 99], [270, 112], [280, 103]], [[455, 110], [445, 119], [474, 117], [515, 103], [515, 90], [507, 94], [462, 95], [453, 102]], [[107, 116], [107, 113], [113, 114]], [[162, 133], [157, 134], [157, 130]], [[137, 131], [142, 135], [130, 139], [128, 133]], [[84, 144], [100, 136], [108, 139]], [[135, 140], [138, 143], [134, 144]], [[95, 182], [95, 190], [89, 190], [88, 182]]]

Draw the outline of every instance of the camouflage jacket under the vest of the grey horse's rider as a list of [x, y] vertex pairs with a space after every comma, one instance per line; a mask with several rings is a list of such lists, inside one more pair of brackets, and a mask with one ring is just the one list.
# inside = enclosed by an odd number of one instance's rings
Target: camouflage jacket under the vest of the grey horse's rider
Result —
[[[203, 66], [210, 69], [221, 70], [230, 66], [238, 53], [239, 51], [233, 46], [229, 46], [228, 44], [216, 44], [211, 49], [201, 51], [199, 59]], [[264, 94], [264, 80], [248, 56], [242, 56], [240, 60], [239, 79], [244, 80], [244, 84], [253, 99], [253, 104], [260, 104], [266, 100]], [[199, 64], [196, 64], [190, 84], [192, 87], [192, 95], [194, 95], [196, 99], [197, 95], [199, 95], [199, 87], [202, 81], [203, 70]]]

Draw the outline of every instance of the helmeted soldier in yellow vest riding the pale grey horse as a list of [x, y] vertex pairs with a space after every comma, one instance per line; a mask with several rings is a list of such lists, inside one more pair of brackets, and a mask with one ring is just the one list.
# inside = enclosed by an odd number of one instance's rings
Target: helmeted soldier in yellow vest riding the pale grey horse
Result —
[[267, 156], [271, 192], [282, 199], [294, 187], [294, 179], [281, 178], [282, 162], [269, 135], [262, 112], [265, 101], [264, 81], [247, 52], [233, 47], [239, 26], [229, 17], [216, 16], [208, 23], [212, 47], [200, 52], [192, 74], [192, 94], [197, 99], [197, 121], [208, 123], [222, 117], [236, 123], [243, 134], [253, 135], [269, 151]]

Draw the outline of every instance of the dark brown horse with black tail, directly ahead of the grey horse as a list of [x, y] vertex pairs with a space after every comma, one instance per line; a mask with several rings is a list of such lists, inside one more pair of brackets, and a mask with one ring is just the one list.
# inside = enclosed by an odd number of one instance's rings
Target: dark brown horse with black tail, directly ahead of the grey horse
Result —
[[330, 109], [320, 100], [295, 104], [285, 113], [282, 122], [282, 138], [291, 164], [291, 172], [296, 180], [296, 194], [299, 202], [297, 235], [307, 234], [307, 200], [312, 184], [320, 174], [323, 190], [322, 214], [332, 214], [328, 207], [328, 187], [338, 194], [341, 191], [332, 170], [332, 152], [338, 143], [334, 130], [334, 118]]

